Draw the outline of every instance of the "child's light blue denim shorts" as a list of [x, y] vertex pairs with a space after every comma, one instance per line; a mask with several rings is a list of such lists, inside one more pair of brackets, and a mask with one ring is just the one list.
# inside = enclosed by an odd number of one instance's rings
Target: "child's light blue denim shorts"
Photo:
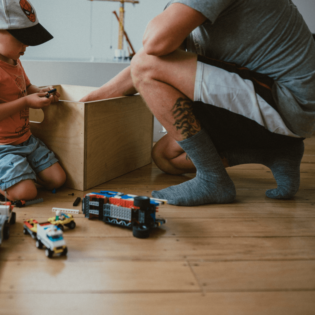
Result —
[[0, 146], [0, 189], [25, 179], [36, 181], [36, 174], [58, 162], [45, 144], [31, 135], [26, 141]]

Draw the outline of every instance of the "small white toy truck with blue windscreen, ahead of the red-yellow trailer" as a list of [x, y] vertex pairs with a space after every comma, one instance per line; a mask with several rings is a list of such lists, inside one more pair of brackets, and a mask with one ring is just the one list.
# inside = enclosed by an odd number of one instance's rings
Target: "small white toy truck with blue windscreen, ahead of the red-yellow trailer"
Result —
[[49, 258], [54, 254], [66, 255], [68, 249], [62, 234], [62, 230], [50, 222], [37, 223], [36, 247], [45, 246], [45, 255]]

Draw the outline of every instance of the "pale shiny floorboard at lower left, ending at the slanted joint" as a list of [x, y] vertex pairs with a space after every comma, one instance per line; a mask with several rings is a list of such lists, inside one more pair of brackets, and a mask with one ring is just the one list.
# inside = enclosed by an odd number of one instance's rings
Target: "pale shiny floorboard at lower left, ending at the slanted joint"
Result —
[[1, 269], [1, 293], [201, 292], [184, 261], [72, 262], [61, 257], [6, 261]]

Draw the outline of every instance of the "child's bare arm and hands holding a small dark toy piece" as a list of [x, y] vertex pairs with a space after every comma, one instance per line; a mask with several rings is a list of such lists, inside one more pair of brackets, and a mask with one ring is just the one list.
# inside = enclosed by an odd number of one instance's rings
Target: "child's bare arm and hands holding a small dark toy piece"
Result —
[[[45, 89], [45, 91], [43, 91], [43, 89]], [[55, 98], [57, 98], [58, 100], [57, 95], [60, 96], [58, 92], [55, 92], [55, 95], [50, 95], [49, 98], [46, 98], [45, 96], [47, 95], [47, 92], [51, 89], [50, 87], [46, 87], [43, 89], [40, 89], [35, 85], [29, 85], [26, 88], [27, 96], [21, 97], [11, 102], [0, 104], [0, 121], [16, 112], [19, 112], [20, 110], [23, 110], [24, 108], [30, 107], [39, 109], [50, 105], [51, 102], [55, 101]], [[39, 92], [36, 92], [37, 90]]]

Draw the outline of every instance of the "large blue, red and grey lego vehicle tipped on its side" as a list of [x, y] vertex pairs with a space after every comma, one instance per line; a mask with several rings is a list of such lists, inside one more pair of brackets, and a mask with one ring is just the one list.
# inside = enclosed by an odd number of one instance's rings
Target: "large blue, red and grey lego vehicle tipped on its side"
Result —
[[148, 238], [153, 228], [166, 221], [156, 218], [157, 206], [165, 200], [100, 191], [88, 193], [82, 200], [82, 212], [86, 218], [98, 218], [109, 224], [132, 228], [133, 236]]

